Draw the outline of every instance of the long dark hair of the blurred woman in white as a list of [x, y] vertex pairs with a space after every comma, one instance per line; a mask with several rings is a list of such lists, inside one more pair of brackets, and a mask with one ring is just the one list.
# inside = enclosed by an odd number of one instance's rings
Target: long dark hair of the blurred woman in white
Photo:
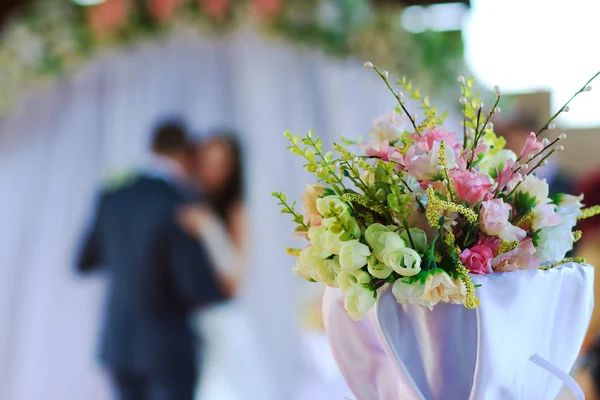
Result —
[[206, 140], [206, 145], [215, 143], [225, 146], [226, 151], [231, 156], [233, 165], [228, 179], [214, 193], [208, 193], [207, 200], [215, 213], [226, 221], [227, 213], [231, 211], [231, 207], [244, 198], [242, 149], [237, 135], [227, 130], [215, 131]]

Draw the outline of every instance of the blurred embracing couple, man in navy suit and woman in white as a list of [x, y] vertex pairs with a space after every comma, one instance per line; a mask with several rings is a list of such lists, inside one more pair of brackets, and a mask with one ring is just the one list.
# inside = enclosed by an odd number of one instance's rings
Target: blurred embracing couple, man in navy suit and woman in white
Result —
[[79, 271], [109, 274], [100, 357], [116, 397], [260, 398], [247, 370], [259, 369], [257, 346], [231, 300], [246, 239], [237, 140], [197, 145], [164, 124], [147, 165], [117, 182], [102, 190], [78, 258]]

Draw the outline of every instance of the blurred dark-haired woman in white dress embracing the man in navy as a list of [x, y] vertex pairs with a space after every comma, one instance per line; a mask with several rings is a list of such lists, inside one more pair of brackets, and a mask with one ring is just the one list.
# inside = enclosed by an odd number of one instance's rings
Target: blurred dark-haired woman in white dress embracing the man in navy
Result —
[[[206, 247], [219, 275], [239, 286], [243, 279], [246, 235], [242, 165], [238, 141], [215, 136], [198, 151], [197, 173], [206, 204], [179, 213], [182, 226]], [[269, 399], [266, 370], [255, 354], [256, 338], [235, 298], [203, 309], [192, 322], [204, 338], [198, 400]]]

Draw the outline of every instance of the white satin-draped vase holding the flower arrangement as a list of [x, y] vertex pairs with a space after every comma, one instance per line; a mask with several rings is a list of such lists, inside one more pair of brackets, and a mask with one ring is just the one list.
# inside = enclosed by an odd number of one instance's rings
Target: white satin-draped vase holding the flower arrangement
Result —
[[563, 383], [531, 358], [554, 371], [572, 368], [593, 309], [593, 277], [593, 267], [575, 263], [474, 275], [475, 310], [397, 304], [384, 287], [358, 322], [346, 315], [343, 294], [328, 288], [325, 328], [358, 400], [553, 400]]

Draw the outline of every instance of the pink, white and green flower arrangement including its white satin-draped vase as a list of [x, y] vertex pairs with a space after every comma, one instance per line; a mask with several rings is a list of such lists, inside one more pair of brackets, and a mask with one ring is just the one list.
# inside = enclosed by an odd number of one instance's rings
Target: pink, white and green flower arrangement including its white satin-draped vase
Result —
[[[339, 289], [329, 296], [336, 300], [325, 302], [324, 314], [342, 372], [349, 380], [343, 364], [352, 361], [344, 361], [343, 346], [334, 342], [351, 335], [352, 320], [377, 303], [374, 332], [394, 360], [398, 381], [405, 382], [404, 394], [390, 398], [552, 398], [544, 396], [555, 396], [559, 386], [536, 372], [516, 378], [515, 368], [526, 368], [541, 353], [558, 369], [575, 361], [591, 314], [593, 270], [565, 256], [581, 237], [574, 230], [577, 220], [600, 213], [600, 207], [584, 208], [582, 196], [549, 195], [536, 171], [563, 150], [566, 134], [554, 140], [541, 135], [556, 128], [554, 120], [575, 96], [591, 90], [600, 72], [530, 133], [517, 154], [494, 133], [498, 87], [486, 110], [472, 91], [474, 80], [459, 77], [463, 131], [456, 134], [443, 128], [446, 113], [438, 113], [412, 82], [402, 78], [397, 92], [387, 71], [365, 66], [396, 98], [395, 112], [374, 121], [369, 142], [342, 138], [335, 155], [323, 150], [312, 131], [303, 138], [286, 132], [288, 149], [306, 160], [320, 184], [307, 185], [302, 213], [283, 193], [273, 193], [309, 242], [288, 249], [298, 257], [293, 271]], [[423, 119], [407, 110], [404, 96], [420, 102]], [[336, 304], [351, 319], [334, 313]], [[520, 344], [507, 347], [502, 335]], [[556, 350], [559, 345], [562, 350]], [[464, 368], [456, 369], [459, 360]], [[490, 378], [494, 363], [503, 370]], [[369, 386], [366, 378], [352, 379], [355, 394]], [[532, 384], [545, 385], [544, 394]]]

